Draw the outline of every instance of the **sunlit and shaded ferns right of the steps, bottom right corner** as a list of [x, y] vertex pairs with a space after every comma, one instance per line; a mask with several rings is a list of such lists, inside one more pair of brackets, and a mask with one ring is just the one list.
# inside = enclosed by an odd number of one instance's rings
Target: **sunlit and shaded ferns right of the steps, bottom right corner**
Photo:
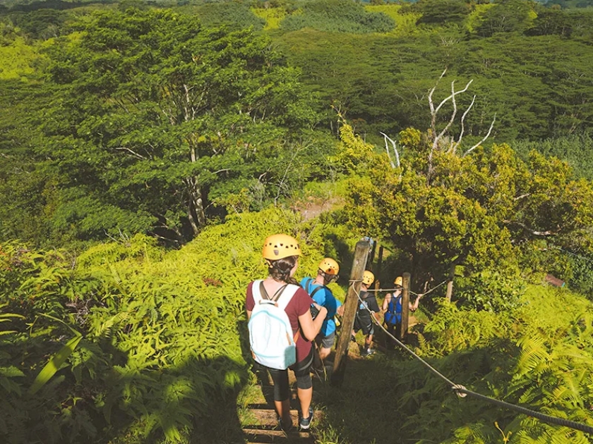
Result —
[[[414, 352], [468, 390], [592, 426], [590, 302], [541, 285], [521, 302], [500, 314], [438, 304]], [[343, 390], [324, 392], [329, 421], [348, 443], [591, 443], [581, 431], [457, 397], [403, 350], [354, 365], [359, 374]]]

